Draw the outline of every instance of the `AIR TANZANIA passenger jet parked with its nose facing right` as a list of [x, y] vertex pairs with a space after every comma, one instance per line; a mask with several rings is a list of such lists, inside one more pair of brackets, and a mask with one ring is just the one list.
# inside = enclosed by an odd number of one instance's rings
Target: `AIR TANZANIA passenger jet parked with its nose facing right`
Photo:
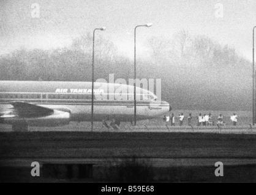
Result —
[[[157, 101], [151, 91], [136, 87], [137, 119], [170, 112], [168, 102]], [[94, 83], [94, 121], [134, 120], [134, 86]], [[13, 131], [28, 127], [66, 126], [71, 121], [91, 121], [91, 82], [0, 81], [0, 123]], [[160, 103], [159, 103], [160, 102]]]

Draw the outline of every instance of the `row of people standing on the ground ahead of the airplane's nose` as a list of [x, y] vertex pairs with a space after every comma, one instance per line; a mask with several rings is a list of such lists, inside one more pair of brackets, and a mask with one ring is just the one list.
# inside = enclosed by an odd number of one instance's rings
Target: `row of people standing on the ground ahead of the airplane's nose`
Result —
[[[178, 116], [178, 121], [179, 121], [179, 126], [183, 126], [185, 116], [183, 113], [179, 114]], [[234, 113], [232, 116], [230, 116], [230, 119], [233, 122], [233, 126], [236, 126], [236, 123], [238, 121], [238, 116], [236, 113]], [[165, 122], [171, 122], [171, 126], [175, 126], [175, 115], [172, 113], [171, 116], [164, 116], [164, 121]], [[187, 124], [189, 126], [192, 126], [192, 114], [190, 113], [189, 116], [187, 116]], [[220, 114], [217, 118], [217, 126], [223, 126], [225, 124], [224, 118], [222, 114]], [[201, 113], [197, 116], [197, 126], [214, 126], [214, 121], [212, 119], [211, 113], [208, 115], [204, 114], [202, 115]]]

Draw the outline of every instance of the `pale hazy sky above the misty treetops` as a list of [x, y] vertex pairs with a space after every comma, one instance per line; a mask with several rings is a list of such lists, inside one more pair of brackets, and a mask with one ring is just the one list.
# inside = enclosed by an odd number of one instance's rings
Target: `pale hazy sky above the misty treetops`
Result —
[[[40, 8], [39, 18], [32, 4]], [[224, 6], [223, 18], [217, 3]], [[217, 12], [219, 10], [220, 12]], [[216, 15], [217, 12], [217, 15]], [[217, 16], [217, 17], [216, 17]], [[219, 18], [220, 17], [220, 18]], [[138, 54], [146, 52], [152, 36], [171, 38], [179, 30], [207, 35], [252, 59], [252, 28], [256, 26], [255, 0], [0, 0], [0, 54], [20, 47], [51, 49], [67, 46], [72, 38], [96, 27], [120, 52], [132, 58], [134, 27], [138, 29]]]

